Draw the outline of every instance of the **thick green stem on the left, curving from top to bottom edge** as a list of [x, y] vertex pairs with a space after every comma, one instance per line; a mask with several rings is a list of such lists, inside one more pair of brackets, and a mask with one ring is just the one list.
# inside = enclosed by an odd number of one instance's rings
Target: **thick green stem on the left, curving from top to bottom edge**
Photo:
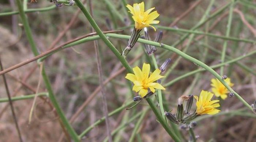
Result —
[[[22, 2], [20, 0], [16, 0], [16, 3], [17, 3], [17, 6], [18, 6], [18, 9], [19, 9], [20, 17], [21, 17], [23, 25], [24, 25], [24, 29], [25, 29], [27, 39], [29, 40], [29, 44], [31, 46], [31, 50], [32, 50], [33, 54], [35, 56], [37, 56], [37, 55], [39, 55], [39, 53], [38, 53], [37, 47], [35, 45], [35, 42], [33, 40], [32, 32], [31, 32], [31, 29], [30, 29], [30, 26], [29, 26], [29, 21], [27, 20], [26, 14], [23, 10]], [[45, 82], [45, 86], [48, 90], [49, 98], [50, 98], [54, 108], [56, 109], [57, 114], [59, 115], [61, 121], [63, 122], [64, 126], [67, 128], [68, 133], [71, 135], [71, 137], [74, 139], [74, 141], [79, 142], [80, 140], [78, 138], [78, 135], [76, 134], [73, 127], [69, 124], [68, 119], [65, 117], [64, 113], [62, 112], [62, 110], [61, 110], [61, 108], [60, 108], [60, 106], [59, 106], [59, 104], [58, 104], [58, 102], [57, 102], [57, 100], [54, 96], [52, 86], [50, 84], [50, 80], [49, 80], [48, 76], [46, 75], [44, 67], [42, 68], [42, 77], [43, 77], [43, 80]]]

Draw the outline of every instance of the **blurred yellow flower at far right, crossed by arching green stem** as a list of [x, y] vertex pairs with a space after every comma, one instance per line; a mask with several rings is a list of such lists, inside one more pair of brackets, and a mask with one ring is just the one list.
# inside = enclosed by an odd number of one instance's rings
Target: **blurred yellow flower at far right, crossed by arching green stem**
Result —
[[[234, 84], [231, 83], [230, 78], [225, 79], [225, 82], [232, 87]], [[227, 98], [227, 93], [229, 90], [218, 80], [218, 79], [211, 79], [211, 86], [212, 86], [212, 92], [215, 96], [219, 97], [221, 96], [222, 99]]]

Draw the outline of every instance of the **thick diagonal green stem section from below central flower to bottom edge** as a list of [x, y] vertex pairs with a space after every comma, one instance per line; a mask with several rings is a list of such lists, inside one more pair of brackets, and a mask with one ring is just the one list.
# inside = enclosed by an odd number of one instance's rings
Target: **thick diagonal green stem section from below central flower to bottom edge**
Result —
[[170, 127], [167, 125], [165, 120], [163, 119], [162, 115], [159, 114], [157, 107], [153, 103], [153, 101], [150, 98], [146, 98], [148, 104], [150, 105], [151, 109], [153, 110], [155, 116], [157, 117], [157, 120], [161, 123], [163, 128], [166, 130], [166, 132], [173, 138], [175, 142], [180, 142], [180, 139], [177, 137], [176, 134], [173, 133], [173, 131], [170, 129]]

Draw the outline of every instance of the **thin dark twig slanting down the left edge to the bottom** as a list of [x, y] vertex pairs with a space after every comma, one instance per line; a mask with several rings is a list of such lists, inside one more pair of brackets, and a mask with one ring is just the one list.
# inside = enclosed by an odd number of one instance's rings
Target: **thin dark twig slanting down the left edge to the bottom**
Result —
[[[0, 58], [0, 68], [1, 68], [1, 71], [3, 71], [3, 65], [2, 65], [2, 62], [1, 62], [1, 58]], [[22, 137], [21, 137], [21, 134], [20, 134], [19, 125], [18, 125], [17, 118], [16, 118], [16, 115], [15, 115], [14, 107], [12, 105], [11, 95], [10, 95], [10, 91], [9, 91], [9, 88], [8, 88], [8, 84], [7, 84], [7, 80], [5, 78], [5, 75], [3, 75], [3, 79], [4, 79], [5, 90], [6, 90], [8, 100], [9, 100], [9, 103], [10, 103], [10, 106], [11, 106], [12, 117], [14, 119], [16, 130], [17, 130], [18, 135], [19, 135], [19, 141], [22, 142]]]

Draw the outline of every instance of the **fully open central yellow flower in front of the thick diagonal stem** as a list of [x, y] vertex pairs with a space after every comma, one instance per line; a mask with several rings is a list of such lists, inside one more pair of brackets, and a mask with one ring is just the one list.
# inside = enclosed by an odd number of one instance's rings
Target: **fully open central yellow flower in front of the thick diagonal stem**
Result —
[[139, 92], [141, 98], [146, 96], [148, 88], [153, 93], [155, 92], [155, 88], [165, 90], [161, 84], [155, 83], [156, 80], [164, 77], [159, 75], [161, 73], [159, 69], [156, 69], [153, 73], [150, 74], [150, 64], [144, 63], [142, 70], [140, 70], [138, 66], [132, 68], [132, 70], [134, 74], [129, 73], [125, 76], [125, 78], [133, 82], [134, 86], [132, 90]]

